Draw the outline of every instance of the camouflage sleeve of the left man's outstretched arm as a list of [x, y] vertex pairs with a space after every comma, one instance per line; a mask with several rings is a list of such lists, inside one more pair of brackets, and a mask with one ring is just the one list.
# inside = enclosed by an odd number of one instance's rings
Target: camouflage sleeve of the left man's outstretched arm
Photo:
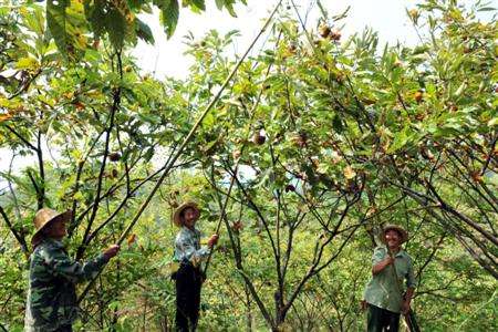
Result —
[[62, 249], [58, 249], [45, 252], [45, 262], [54, 276], [76, 283], [94, 278], [107, 263], [107, 259], [101, 253], [85, 262], [77, 262], [72, 260]]

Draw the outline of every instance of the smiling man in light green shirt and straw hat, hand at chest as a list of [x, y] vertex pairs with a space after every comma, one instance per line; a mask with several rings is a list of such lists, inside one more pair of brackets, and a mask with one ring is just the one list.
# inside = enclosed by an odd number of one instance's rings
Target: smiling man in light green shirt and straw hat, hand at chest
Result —
[[[382, 241], [372, 256], [372, 279], [366, 286], [364, 301], [367, 303], [367, 331], [398, 331], [400, 313], [409, 311], [415, 278], [412, 258], [401, 248], [408, 239], [405, 229], [396, 225], [384, 227]], [[403, 282], [406, 293], [403, 295]]]

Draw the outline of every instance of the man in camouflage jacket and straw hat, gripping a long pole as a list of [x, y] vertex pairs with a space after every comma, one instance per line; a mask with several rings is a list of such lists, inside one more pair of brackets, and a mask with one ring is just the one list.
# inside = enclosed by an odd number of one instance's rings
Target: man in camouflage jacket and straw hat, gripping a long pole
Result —
[[86, 262], [73, 261], [62, 246], [71, 211], [37, 212], [37, 232], [31, 242], [30, 279], [24, 329], [28, 332], [72, 331], [77, 318], [75, 284], [95, 277], [120, 247], [113, 245]]

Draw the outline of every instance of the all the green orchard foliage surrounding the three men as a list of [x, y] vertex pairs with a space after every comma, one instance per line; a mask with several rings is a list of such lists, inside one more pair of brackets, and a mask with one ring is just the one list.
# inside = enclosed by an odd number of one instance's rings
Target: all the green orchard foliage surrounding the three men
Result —
[[[234, 1], [216, 3], [232, 13]], [[187, 39], [187, 80], [142, 74], [126, 46], [153, 41], [136, 18], [152, 6], [173, 33], [176, 1], [0, 8], [0, 147], [35, 160], [1, 174], [2, 325], [22, 324], [35, 210], [76, 211], [68, 247], [79, 259], [116, 241], [235, 64], [225, 49], [236, 32], [211, 31]], [[424, 330], [496, 330], [497, 24], [478, 21], [483, 10], [426, 1], [408, 12], [421, 43], [378, 52], [370, 30], [341, 41], [339, 18], [322, 18], [334, 31], [323, 34], [282, 9], [82, 302], [76, 328], [170, 329], [169, 216], [195, 199], [205, 232], [222, 225], [204, 330], [363, 330], [359, 302], [385, 222], [411, 234]]]

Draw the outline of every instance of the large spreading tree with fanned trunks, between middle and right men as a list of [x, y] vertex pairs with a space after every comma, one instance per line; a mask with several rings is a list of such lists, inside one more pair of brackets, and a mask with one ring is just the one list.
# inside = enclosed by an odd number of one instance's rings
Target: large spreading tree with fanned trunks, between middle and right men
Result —
[[[325, 268], [359, 229], [375, 246], [386, 220], [413, 235], [418, 277], [455, 241], [497, 277], [496, 25], [475, 20], [486, 10], [428, 1], [409, 11], [421, 44], [381, 54], [371, 31], [341, 42], [328, 24], [333, 20], [315, 32], [282, 21], [273, 46], [242, 68], [225, 105], [208, 117], [198, 158], [207, 154], [207, 179], [232, 201], [225, 224], [234, 264], [273, 330], [286, 325], [293, 301], [322, 270], [322, 252], [330, 250]], [[216, 84], [227, 61], [209, 50], [219, 44], [211, 39], [193, 50], [203, 63], [194, 71]], [[255, 176], [241, 180], [243, 173]], [[215, 200], [222, 216], [225, 199]], [[267, 253], [241, 240], [245, 228], [256, 229]], [[315, 238], [315, 246], [297, 249], [295, 234], [310, 243]], [[303, 270], [293, 266], [289, 280], [293, 250]]]

